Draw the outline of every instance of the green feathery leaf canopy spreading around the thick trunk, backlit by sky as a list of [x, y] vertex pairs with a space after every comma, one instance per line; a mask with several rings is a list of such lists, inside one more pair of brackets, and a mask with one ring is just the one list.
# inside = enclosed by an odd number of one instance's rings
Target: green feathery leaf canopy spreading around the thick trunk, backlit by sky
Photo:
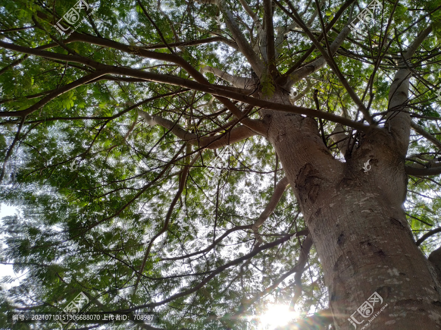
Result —
[[[270, 2], [276, 56], [266, 59], [260, 73], [241, 51], [235, 32], [219, 22], [233, 20], [251, 48], [261, 52], [265, 34], [258, 31], [268, 28], [266, 1], [227, 0], [221, 6], [90, 1], [92, 14], [86, 18], [80, 12], [86, 19], [70, 37], [61, 36], [53, 24], [76, 2], [16, 0], [0, 8], [0, 159], [5, 160], [0, 198], [20, 208], [3, 219], [1, 263], [26, 273], [18, 285], [1, 290], [1, 313], [16, 306], [61, 311], [80, 291], [94, 298], [91, 311], [154, 310], [155, 327], [161, 329], [259, 329], [255, 317], [270, 303], [293, 300], [302, 317], [326, 310], [320, 261], [314, 246], [307, 260], [302, 257], [306, 227], [289, 189], [264, 217], [259, 234], [253, 233], [252, 225], [284, 177], [269, 141], [249, 134], [232, 143], [232, 154], [221, 157], [221, 170], [208, 184], [206, 171], [216, 170], [225, 143], [205, 148], [176, 134], [180, 127], [198, 140], [222, 141], [242, 127], [221, 96], [247, 118], [260, 118], [259, 106], [241, 101], [237, 95], [243, 88], [231, 87], [225, 74], [257, 79], [256, 90], [268, 99], [281, 81], [289, 92], [291, 82], [297, 107], [317, 109], [317, 90], [322, 138], [344, 161], [331, 139], [339, 121], [326, 115], [359, 123], [366, 118], [328, 66], [297, 80], [293, 76], [321, 54], [287, 14], [289, 1], [275, 1], [285, 11]], [[296, 3], [314, 36], [329, 26], [327, 37], [320, 38], [327, 48], [368, 3], [322, 1], [320, 14], [317, 4]], [[411, 137], [408, 165], [429, 167], [441, 157], [441, 142], [436, 143], [440, 5], [440, 0], [385, 1], [372, 22], [352, 32], [334, 56], [381, 126], [396, 62], [432, 24], [432, 34], [411, 59], [409, 110], [433, 135], [431, 141], [421, 132]], [[272, 76], [271, 67], [280, 76]], [[204, 90], [208, 85], [195, 83], [198, 72], [212, 84], [212, 94]], [[148, 118], [168, 124], [151, 125]], [[344, 130], [358, 138], [353, 127]], [[405, 208], [416, 239], [440, 225], [440, 186], [439, 175], [410, 177]], [[437, 240], [431, 236], [421, 248], [429, 252]], [[318, 318], [305, 323], [319, 329]], [[127, 325], [111, 327], [106, 329]]]

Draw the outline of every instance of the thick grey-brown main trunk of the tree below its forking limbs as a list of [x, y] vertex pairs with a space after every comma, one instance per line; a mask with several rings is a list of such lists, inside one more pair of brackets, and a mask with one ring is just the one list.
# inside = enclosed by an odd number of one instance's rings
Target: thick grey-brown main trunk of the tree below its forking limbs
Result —
[[402, 208], [400, 141], [374, 129], [342, 163], [323, 145], [314, 119], [262, 114], [322, 263], [337, 329], [441, 329], [440, 285]]

